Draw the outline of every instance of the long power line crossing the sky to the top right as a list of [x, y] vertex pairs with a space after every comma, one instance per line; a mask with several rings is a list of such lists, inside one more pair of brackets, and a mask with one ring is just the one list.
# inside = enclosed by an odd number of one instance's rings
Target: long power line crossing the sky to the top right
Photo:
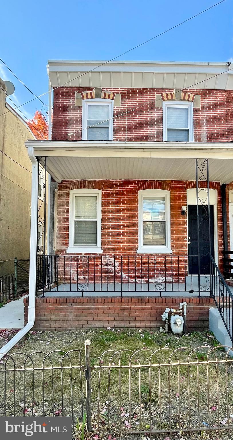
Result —
[[[120, 56], [123, 56], [123, 55], [127, 54], [128, 52], [131, 52], [131, 51], [133, 51], [134, 49], [139, 48], [139, 47], [142, 46], [143, 44], [149, 43], [149, 41], [155, 40], [155, 38], [158, 38], [158, 37], [160, 37], [161, 35], [164, 35], [164, 33], [167, 33], [167, 32], [169, 32], [170, 30], [175, 29], [175, 28], [177, 28], [178, 26], [181, 26], [182, 24], [184, 24], [184, 23], [186, 23], [186, 22], [192, 20], [192, 19], [195, 18], [195, 17], [198, 17], [198, 15], [204, 14], [204, 12], [209, 11], [209, 10], [212, 9], [213, 7], [218, 6], [219, 4], [221, 4], [221, 3], [225, 2], [225, 1], [226, 1], [226, 0], [221, 0], [221, 1], [219, 1], [218, 3], [213, 4], [212, 6], [208, 7], [207, 9], [204, 9], [204, 11], [198, 12], [198, 14], [195, 14], [195, 15], [193, 15], [192, 17], [189, 17], [189, 18], [187, 18], [186, 20], [184, 20], [184, 21], [178, 23], [177, 25], [172, 26], [172, 27], [169, 28], [169, 29], [166, 29], [164, 32], [161, 32], [161, 33], [155, 35], [155, 37], [149, 38], [149, 40], [143, 41], [143, 43], [138, 44], [137, 46], [135, 46], [135, 47], [133, 47], [133, 48], [131, 48], [131, 49], [129, 49], [129, 50], [127, 50], [127, 51], [121, 53], [120, 55], [117, 55], [116, 57], [114, 57], [114, 58], [112, 58], [112, 59], [109, 59], [108, 61], [103, 62], [102, 64], [99, 64], [99, 65], [96, 66], [96, 67], [93, 67], [93, 69], [88, 70], [87, 72], [82, 73], [82, 74], [79, 75], [78, 77], [75, 77], [75, 78], [72, 78], [72, 79], [69, 80], [69, 81], [66, 81], [65, 83], [63, 83], [63, 84], [61, 84], [61, 85], [55, 87], [53, 90], [55, 90], [56, 88], [62, 87], [63, 85], [66, 85], [66, 84], [70, 83], [71, 81], [74, 81], [74, 80], [76, 80], [76, 79], [78, 79], [78, 78], [80, 78], [80, 77], [86, 75], [87, 73], [90, 73], [90, 72], [92, 72], [93, 70], [98, 69], [99, 67], [104, 66], [105, 64], [108, 64], [108, 63], [111, 62], [111, 61], [114, 61], [115, 59], [119, 58]], [[28, 104], [28, 103], [31, 103], [31, 102], [34, 101], [35, 99], [40, 98], [41, 96], [47, 95], [47, 93], [49, 93], [49, 92], [50, 92], [50, 90], [48, 90], [47, 92], [42, 93], [42, 94], [39, 95], [39, 96], [36, 96], [36, 98], [30, 99], [30, 101], [27, 101], [26, 103], [21, 104], [21, 105], [18, 106], [18, 107], [15, 107], [15, 109], [18, 109], [18, 108], [21, 107], [21, 106], [24, 106], [24, 105], [26, 105], [26, 104]], [[13, 110], [15, 110], [15, 109], [13, 109]], [[11, 110], [8, 110], [8, 111], [5, 112], [5, 113], [8, 113], [9, 111], [11, 111]], [[0, 116], [3, 116], [5, 113], [0, 114]]]

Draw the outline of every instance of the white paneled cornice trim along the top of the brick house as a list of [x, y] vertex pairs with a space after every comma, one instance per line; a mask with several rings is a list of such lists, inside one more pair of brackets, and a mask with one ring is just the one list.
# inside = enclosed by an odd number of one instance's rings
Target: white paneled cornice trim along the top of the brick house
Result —
[[233, 70], [228, 66], [228, 62], [49, 60], [47, 72], [52, 87], [225, 90], [233, 89]]

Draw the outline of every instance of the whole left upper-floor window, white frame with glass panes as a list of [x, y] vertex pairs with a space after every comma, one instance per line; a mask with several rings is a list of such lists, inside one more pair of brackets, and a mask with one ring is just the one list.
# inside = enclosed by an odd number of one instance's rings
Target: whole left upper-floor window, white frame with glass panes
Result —
[[83, 101], [83, 140], [113, 140], [113, 101], [86, 99]]

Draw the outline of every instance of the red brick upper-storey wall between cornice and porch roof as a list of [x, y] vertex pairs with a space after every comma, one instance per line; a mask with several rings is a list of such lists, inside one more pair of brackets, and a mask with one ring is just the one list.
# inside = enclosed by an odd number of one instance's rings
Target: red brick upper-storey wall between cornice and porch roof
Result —
[[[81, 139], [82, 106], [75, 106], [75, 93], [88, 90], [93, 88], [55, 88], [53, 139]], [[121, 106], [114, 106], [113, 140], [163, 140], [163, 111], [155, 106], [156, 95], [174, 89], [110, 88], [109, 91], [121, 94]], [[189, 92], [200, 95], [200, 109], [193, 109], [194, 141], [233, 140], [233, 91], [189, 89]], [[68, 136], [69, 133], [74, 134]]]

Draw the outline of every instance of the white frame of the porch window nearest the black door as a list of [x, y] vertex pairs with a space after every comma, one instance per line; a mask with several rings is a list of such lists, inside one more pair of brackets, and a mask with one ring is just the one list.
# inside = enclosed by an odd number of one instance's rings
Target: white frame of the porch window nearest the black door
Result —
[[[165, 246], [143, 246], [143, 197], [164, 197], [165, 200], [165, 222], [166, 222], [166, 245]], [[138, 249], [137, 253], [172, 253], [171, 250], [171, 207], [170, 191], [167, 190], [142, 190], [138, 191]]]

